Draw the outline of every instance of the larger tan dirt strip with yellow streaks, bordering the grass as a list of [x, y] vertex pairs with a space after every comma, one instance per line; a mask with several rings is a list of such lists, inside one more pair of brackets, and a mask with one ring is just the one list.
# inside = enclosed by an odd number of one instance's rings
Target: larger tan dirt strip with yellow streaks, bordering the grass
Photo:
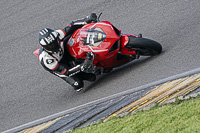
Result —
[[142, 108], [151, 106], [155, 103], [162, 104], [164, 101], [183, 96], [184, 94], [188, 94], [193, 90], [200, 87], [200, 74], [191, 75], [185, 78], [177, 79], [174, 81], [169, 81], [164, 84], [158, 85], [155, 89], [148, 92], [146, 95], [141, 97], [140, 99], [134, 101], [133, 103], [123, 107], [122, 109], [116, 111], [112, 115], [108, 116], [104, 119], [106, 122], [113, 116], [127, 114], [127, 113], [135, 113]]

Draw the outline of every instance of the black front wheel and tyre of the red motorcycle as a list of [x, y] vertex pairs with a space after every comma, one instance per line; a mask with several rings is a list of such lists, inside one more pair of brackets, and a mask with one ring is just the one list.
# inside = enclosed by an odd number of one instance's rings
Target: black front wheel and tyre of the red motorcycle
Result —
[[139, 52], [142, 56], [154, 56], [162, 52], [161, 44], [154, 40], [130, 36], [128, 38], [129, 42], [126, 47]]

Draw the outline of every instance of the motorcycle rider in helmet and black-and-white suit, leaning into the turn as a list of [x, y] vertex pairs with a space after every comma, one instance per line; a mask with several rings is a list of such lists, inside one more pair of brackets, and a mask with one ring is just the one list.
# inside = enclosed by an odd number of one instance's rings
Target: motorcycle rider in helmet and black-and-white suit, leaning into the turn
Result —
[[77, 29], [96, 21], [96, 14], [92, 13], [83, 19], [72, 21], [64, 29], [44, 28], [38, 34], [41, 65], [45, 70], [65, 80], [76, 91], [80, 91], [84, 86], [83, 80], [94, 81], [96, 75], [89, 73], [91, 61], [85, 60], [84, 63], [78, 64], [67, 51], [65, 43]]

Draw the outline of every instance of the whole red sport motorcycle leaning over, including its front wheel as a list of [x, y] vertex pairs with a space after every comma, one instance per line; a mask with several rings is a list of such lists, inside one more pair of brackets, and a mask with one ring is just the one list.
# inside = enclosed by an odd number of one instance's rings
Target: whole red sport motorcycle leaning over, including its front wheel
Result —
[[[162, 51], [160, 43], [142, 38], [142, 34], [123, 34], [108, 21], [84, 25], [73, 33], [67, 49], [75, 59], [92, 60], [92, 72], [109, 72], [139, 56], [154, 56]], [[90, 56], [88, 56], [90, 55]]]

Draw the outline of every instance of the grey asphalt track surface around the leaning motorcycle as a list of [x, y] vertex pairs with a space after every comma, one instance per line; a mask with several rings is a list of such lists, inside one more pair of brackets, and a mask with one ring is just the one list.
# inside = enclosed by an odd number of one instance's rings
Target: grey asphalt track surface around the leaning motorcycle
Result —
[[[1, 0], [0, 132], [200, 66], [199, 0]], [[86, 82], [77, 93], [45, 71], [32, 52], [38, 31], [103, 12], [123, 33], [157, 40], [162, 54]]]

